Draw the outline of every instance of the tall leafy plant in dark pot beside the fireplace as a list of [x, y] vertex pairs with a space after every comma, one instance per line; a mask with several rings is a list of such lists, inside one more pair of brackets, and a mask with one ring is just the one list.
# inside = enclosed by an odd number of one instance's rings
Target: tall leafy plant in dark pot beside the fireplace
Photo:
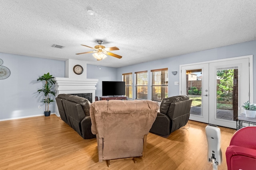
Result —
[[45, 111], [44, 111], [44, 115], [45, 116], [50, 116], [51, 111], [49, 110], [49, 104], [51, 102], [54, 102], [53, 99], [50, 99], [49, 94], [52, 94], [53, 96], [55, 96], [55, 91], [52, 90], [52, 84], [55, 84], [55, 81], [53, 80], [53, 76], [50, 75], [50, 73], [48, 72], [47, 74], [44, 74], [43, 76], [41, 76], [40, 78], [37, 79], [37, 81], [45, 81], [45, 85], [40, 89], [37, 90], [37, 92], [44, 93], [45, 98], [42, 99], [41, 102], [44, 102], [45, 104]]

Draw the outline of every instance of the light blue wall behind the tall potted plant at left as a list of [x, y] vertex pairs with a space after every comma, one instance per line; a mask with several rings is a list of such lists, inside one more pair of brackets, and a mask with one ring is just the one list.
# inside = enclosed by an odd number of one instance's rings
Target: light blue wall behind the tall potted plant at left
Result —
[[[43, 83], [36, 80], [47, 72], [65, 77], [65, 62], [6, 53], [0, 53], [0, 59], [11, 72], [0, 80], [0, 120], [44, 115], [44, 104], [40, 102], [44, 95], [37, 93]], [[50, 110], [55, 112], [55, 102]]]

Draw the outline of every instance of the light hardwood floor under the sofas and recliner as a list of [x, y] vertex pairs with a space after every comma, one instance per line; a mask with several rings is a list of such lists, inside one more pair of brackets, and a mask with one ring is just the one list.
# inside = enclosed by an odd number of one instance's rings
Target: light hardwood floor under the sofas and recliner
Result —
[[[0, 121], [0, 170], [212, 170], [207, 161], [207, 124], [189, 121], [168, 137], [148, 134], [146, 157], [121, 160], [107, 167], [98, 162], [97, 142], [82, 139], [56, 115]], [[188, 124], [184, 127], [188, 128]], [[223, 162], [236, 130], [220, 127]]]

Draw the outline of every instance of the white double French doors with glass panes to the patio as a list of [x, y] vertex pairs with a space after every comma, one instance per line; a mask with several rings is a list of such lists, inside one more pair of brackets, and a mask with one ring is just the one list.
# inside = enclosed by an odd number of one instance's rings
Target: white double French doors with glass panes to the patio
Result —
[[249, 58], [180, 66], [181, 95], [193, 100], [190, 120], [236, 128], [250, 100]]

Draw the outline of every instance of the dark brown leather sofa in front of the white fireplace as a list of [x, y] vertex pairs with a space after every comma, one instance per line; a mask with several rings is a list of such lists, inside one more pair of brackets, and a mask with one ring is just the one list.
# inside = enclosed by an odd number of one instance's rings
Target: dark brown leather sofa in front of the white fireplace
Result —
[[90, 102], [86, 98], [70, 94], [59, 94], [56, 98], [61, 119], [72, 127], [82, 138], [91, 139]]

